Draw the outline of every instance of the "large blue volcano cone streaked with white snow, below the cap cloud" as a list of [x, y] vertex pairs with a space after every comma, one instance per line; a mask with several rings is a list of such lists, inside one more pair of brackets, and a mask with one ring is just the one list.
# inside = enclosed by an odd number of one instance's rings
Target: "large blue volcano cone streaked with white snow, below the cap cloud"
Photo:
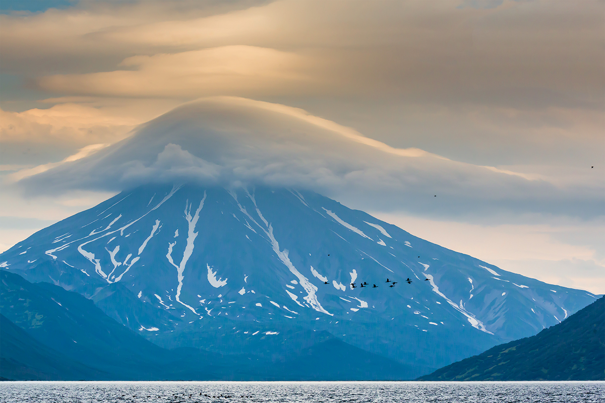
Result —
[[163, 347], [266, 357], [309, 348], [325, 331], [416, 376], [534, 335], [597, 298], [317, 193], [268, 187], [138, 187], [38, 231], [0, 266], [77, 291]]

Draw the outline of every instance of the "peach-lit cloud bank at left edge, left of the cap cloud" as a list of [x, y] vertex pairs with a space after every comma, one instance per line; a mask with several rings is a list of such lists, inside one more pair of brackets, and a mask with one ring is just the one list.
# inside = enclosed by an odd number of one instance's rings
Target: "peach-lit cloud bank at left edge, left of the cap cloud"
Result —
[[140, 123], [182, 101], [59, 97], [41, 103], [56, 105], [24, 112], [0, 109], [2, 170], [10, 165], [56, 163], [82, 147], [116, 143]]

